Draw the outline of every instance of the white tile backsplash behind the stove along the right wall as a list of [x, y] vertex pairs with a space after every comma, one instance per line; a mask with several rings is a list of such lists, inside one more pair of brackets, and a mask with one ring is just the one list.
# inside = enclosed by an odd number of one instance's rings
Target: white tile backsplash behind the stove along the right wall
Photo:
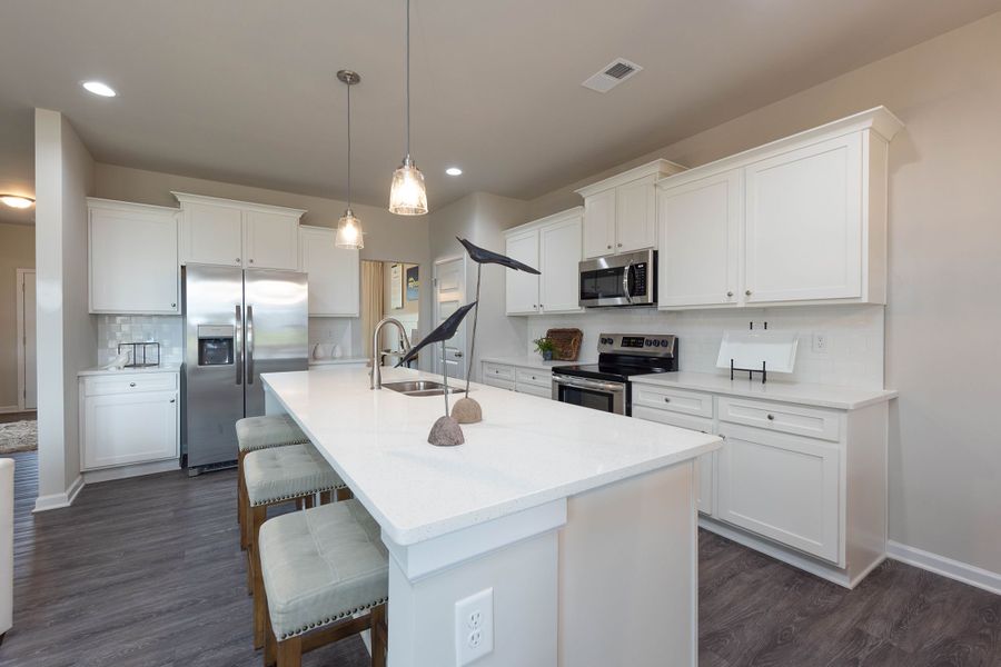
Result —
[[[582, 362], [597, 360], [597, 338], [606, 334], [675, 334], [680, 340], [678, 366], [684, 371], [729, 374], [716, 368], [720, 342], [727, 330], [746, 330], [769, 323], [770, 330], [799, 334], [795, 371], [770, 374], [777, 381], [813, 382], [841, 387], [883, 388], [882, 306], [797, 306], [784, 308], [690, 310], [612, 308], [578, 315], [552, 315], [528, 319], [528, 349], [546, 329], [576, 327], [584, 331]], [[825, 350], [814, 351], [813, 337], [826, 337]]]

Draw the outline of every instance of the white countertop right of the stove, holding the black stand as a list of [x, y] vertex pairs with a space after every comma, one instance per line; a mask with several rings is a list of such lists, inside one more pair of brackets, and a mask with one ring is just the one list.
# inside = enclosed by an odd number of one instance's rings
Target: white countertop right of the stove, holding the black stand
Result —
[[761, 382], [761, 375], [756, 375], [753, 380], [749, 380], [746, 372], [740, 374], [733, 380], [730, 379], [730, 374], [713, 375], [708, 372], [662, 372], [633, 376], [630, 379], [637, 385], [711, 391], [713, 394], [777, 400], [840, 410], [855, 410], [896, 398], [896, 391], [892, 390], [783, 382], [772, 379], [771, 374], [769, 381], [765, 384]]

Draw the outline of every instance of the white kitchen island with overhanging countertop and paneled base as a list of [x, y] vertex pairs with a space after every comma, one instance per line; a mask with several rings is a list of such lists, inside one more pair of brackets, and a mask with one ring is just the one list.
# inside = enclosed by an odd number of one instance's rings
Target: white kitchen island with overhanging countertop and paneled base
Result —
[[[381, 527], [389, 665], [458, 665], [455, 604], [489, 590], [476, 665], [697, 664], [693, 461], [715, 436], [473, 386], [484, 421], [427, 444], [445, 400], [367, 369], [261, 376]], [[386, 369], [383, 382], [438, 376]], [[453, 399], [454, 400], [454, 399]]]

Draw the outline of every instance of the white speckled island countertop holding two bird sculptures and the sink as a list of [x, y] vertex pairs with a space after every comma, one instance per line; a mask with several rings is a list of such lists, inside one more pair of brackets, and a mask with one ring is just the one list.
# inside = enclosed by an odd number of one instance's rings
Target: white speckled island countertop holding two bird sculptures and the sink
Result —
[[[466, 442], [427, 435], [445, 399], [368, 388], [364, 368], [261, 376], [398, 545], [413, 545], [717, 449], [715, 436], [483, 385]], [[438, 378], [385, 369], [383, 381]], [[452, 399], [453, 401], [455, 398]]]

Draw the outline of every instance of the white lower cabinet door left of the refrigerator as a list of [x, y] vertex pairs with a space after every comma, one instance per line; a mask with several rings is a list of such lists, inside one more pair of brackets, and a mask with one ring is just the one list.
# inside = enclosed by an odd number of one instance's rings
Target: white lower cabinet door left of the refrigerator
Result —
[[180, 456], [177, 415], [176, 391], [88, 396], [83, 399], [83, 468]]

